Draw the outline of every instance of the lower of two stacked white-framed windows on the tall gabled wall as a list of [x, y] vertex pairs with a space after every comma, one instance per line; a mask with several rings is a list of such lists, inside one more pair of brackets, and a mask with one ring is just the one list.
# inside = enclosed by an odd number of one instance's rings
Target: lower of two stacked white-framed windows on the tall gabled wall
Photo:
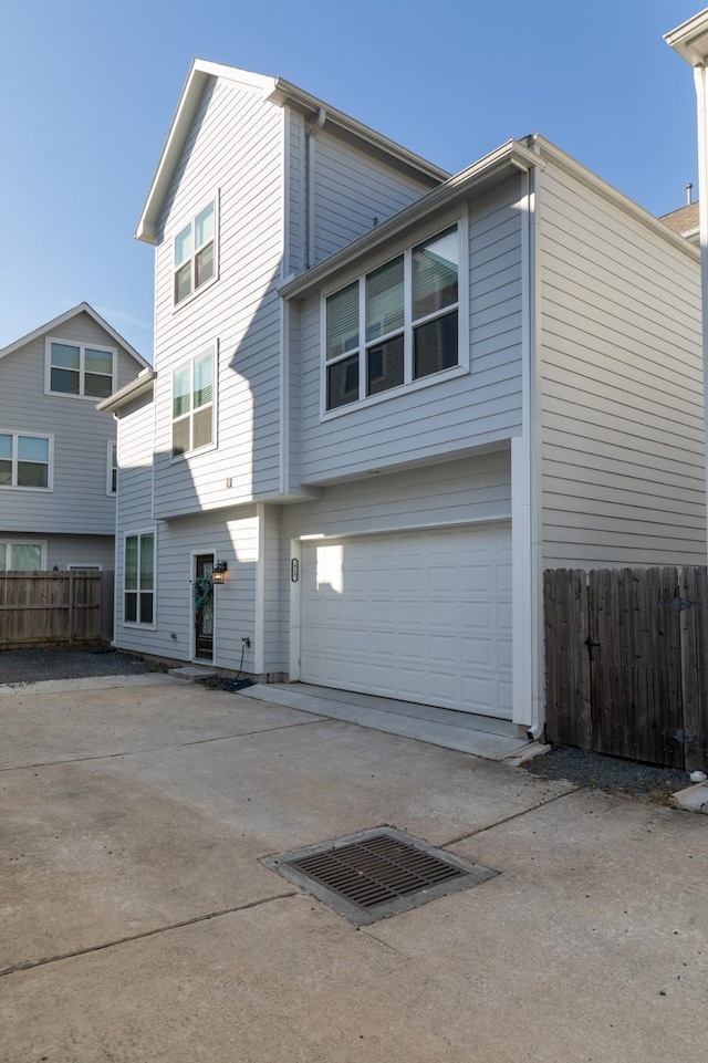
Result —
[[173, 458], [215, 444], [215, 373], [214, 347], [173, 373]]

